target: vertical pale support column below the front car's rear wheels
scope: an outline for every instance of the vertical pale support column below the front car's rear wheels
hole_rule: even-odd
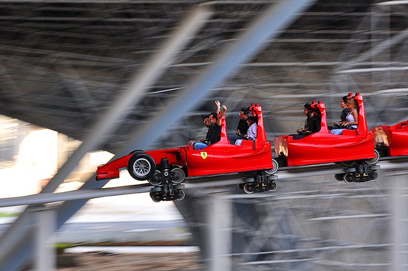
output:
[[[232,270],[232,200],[219,194],[212,195],[208,202],[209,221],[209,269],[211,271]]]

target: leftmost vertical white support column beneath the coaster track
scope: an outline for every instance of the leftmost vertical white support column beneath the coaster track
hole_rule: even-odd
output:
[[[57,248],[54,233],[57,230],[55,208],[40,207],[31,212],[36,219],[34,270],[53,271],[57,269]]]

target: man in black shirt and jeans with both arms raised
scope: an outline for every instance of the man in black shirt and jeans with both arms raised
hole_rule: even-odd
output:
[[[216,113],[211,113],[210,114],[210,127],[208,128],[207,131],[207,142],[189,142],[189,145],[194,146],[194,149],[201,149],[208,147],[211,144],[217,143],[221,139],[221,119],[226,113],[226,106],[223,105],[222,108],[224,109],[221,114],[218,114],[220,112],[220,102],[215,101],[215,104],[217,105],[217,112]]]

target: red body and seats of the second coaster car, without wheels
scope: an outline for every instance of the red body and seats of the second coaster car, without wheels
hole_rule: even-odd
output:
[[[356,94],[359,104],[359,125],[356,130],[344,130],[343,135],[330,134],[325,105],[312,104],[321,114],[321,130],[300,139],[283,135],[274,139],[275,152],[285,156],[287,166],[300,166],[376,158],[374,133],[368,130],[363,96]]]

